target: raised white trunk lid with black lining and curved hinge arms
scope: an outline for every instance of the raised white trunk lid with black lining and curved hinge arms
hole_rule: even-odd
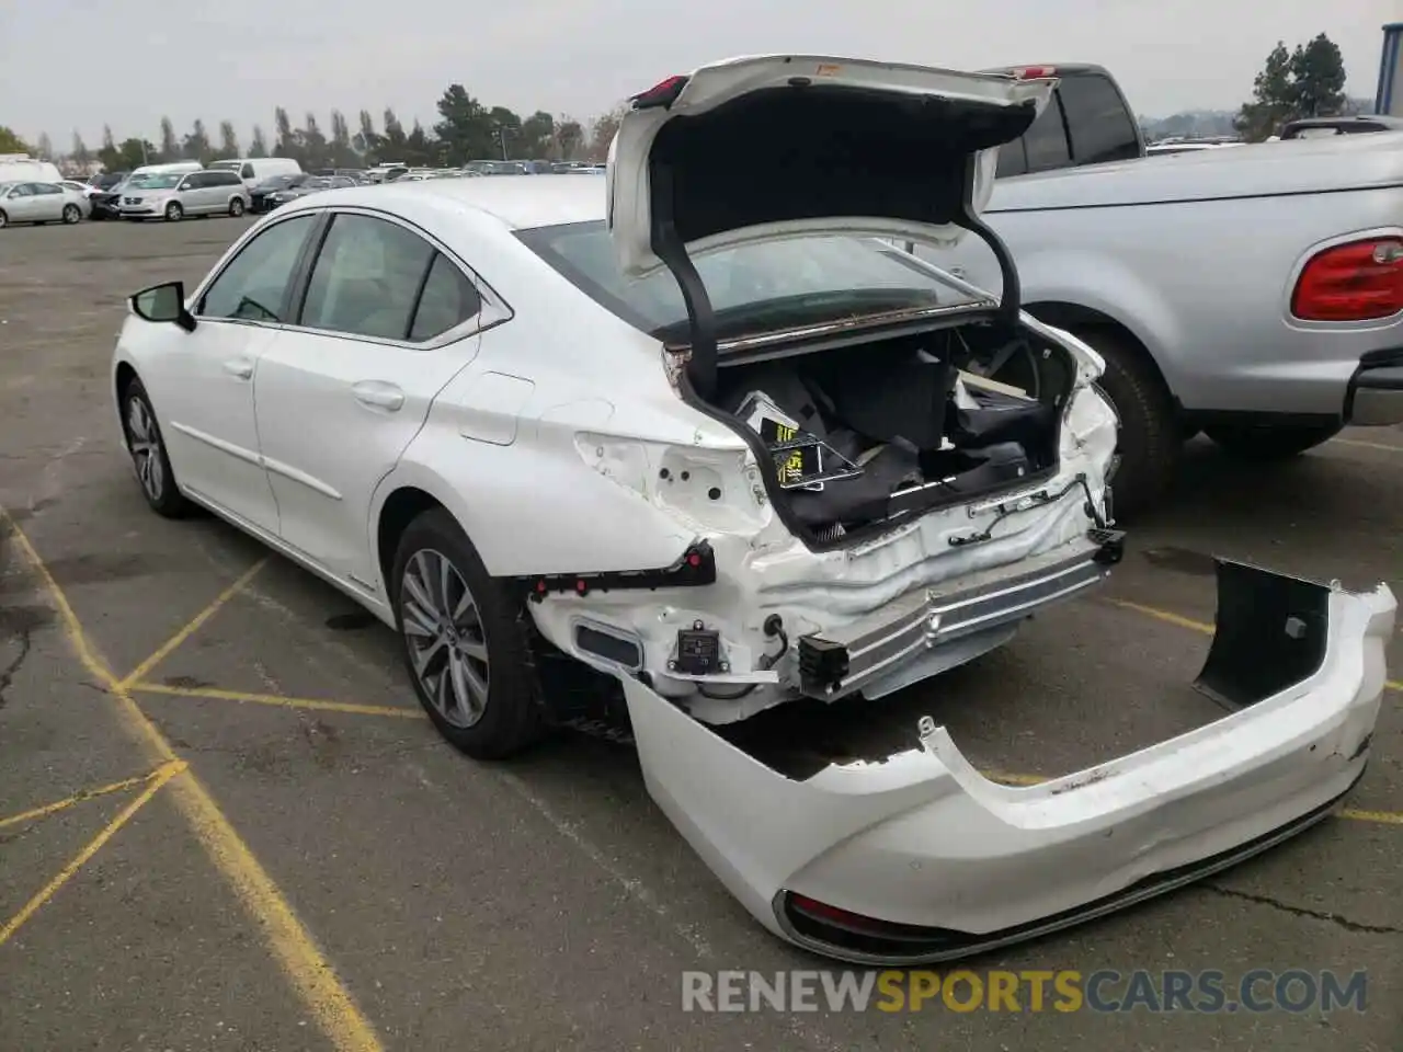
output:
[[[1055,80],[807,55],[704,66],[636,95],[609,150],[607,226],[624,275],[669,269],[687,306],[689,376],[709,393],[716,332],[693,257],[814,236],[991,244],[1017,318],[1017,274],[979,220],[998,147]]]

